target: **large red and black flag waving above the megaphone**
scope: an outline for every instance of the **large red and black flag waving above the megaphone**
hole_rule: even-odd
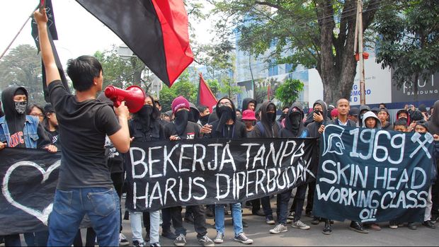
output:
[[[183,0],[76,0],[167,86],[193,62]]]

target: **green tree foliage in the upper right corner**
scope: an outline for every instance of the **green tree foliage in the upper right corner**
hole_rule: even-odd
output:
[[[398,87],[439,71],[439,2],[394,1],[377,13],[377,62],[393,69]],[[417,91],[417,83],[414,83]]]

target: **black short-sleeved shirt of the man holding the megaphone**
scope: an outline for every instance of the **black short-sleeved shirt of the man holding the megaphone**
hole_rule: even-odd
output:
[[[57,188],[112,188],[104,144],[106,134],[120,130],[113,109],[99,100],[76,101],[61,81],[53,81],[48,90],[62,144]]]

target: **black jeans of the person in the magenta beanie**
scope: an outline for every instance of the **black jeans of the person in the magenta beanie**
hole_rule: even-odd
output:
[[[186,209],[188,208],[193,212],[193,226],[197,232],[197,239],[201,239],[207,234],[204,208],[202,205],[186,206]],[[183,234],[186,236],[186,229],[183,227],[183,219],[181,218],[181,207],[170,207],[169,209],[171,210],[176,235]]]

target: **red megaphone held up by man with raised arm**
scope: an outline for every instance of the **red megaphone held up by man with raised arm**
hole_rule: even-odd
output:
[[[113,101],[115,107],[119,107],[125,101],[130,113],[137,113],[144,105],[145,93],[139,86],[129,86],[123,90],[115,86],[108,86],[105,91],[106,97]]]

